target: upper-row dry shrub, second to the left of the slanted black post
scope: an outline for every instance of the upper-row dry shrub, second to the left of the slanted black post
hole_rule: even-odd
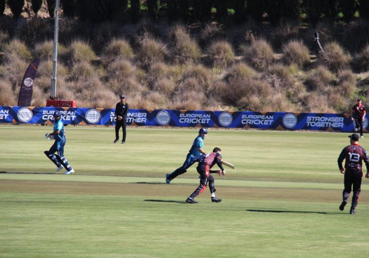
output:
[[[255,69],[264,71],[273,62],[274,52],[264,39],[256,39],[250,46],[241,46],[241,52]]]

